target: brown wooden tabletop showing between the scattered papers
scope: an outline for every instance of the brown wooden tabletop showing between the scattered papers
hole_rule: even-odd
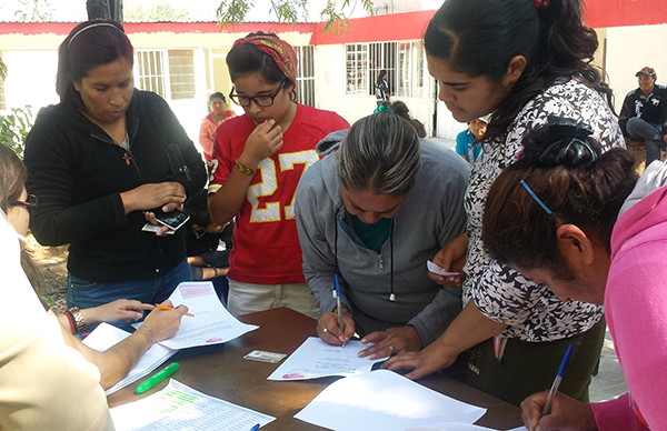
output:
[[[291,354],[308,337],[316,335],[316,321],[287,308],[261,311],[239,318],[245,323],[260,328],[227,342],[218,351],[191,354],[179,352],[170,361],[181,367],[173,379],[206,394],[270,414],[277,419],[263,430],[323,430],[293,419],[328,384],[338,378],[277,382],[267,377],[278,364],[243,359],[252,350]],[[109,407],[125,404],[148,397],[167,385],[168,379],[153,389],[137,395],[133,393],[139,380],[108,398]],[[487,413],[476,423],[499,430],[522,424],[520,409],[495,397],[468,387],[445,374],[432,374],[419,383],[448,397],[487,408]]]

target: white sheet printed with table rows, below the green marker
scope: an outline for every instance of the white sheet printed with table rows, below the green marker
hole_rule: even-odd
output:
[[[117,431],[248,431],[276,418],[193,390],[177,380],[139,401],[110,409]]]

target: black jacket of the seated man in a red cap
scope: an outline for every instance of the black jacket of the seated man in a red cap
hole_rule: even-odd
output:
[[[667,134],[667,89],[655,84],[648,98],[644,97],[638,88],[627,93],[618,116],[618,124],[625,137],[628,137],[626,127],[633,117],[639,117],[651,124],[659,124],[661,134]]]

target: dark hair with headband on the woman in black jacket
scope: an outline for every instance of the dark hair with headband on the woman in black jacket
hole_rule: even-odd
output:
[[[74,82],[81,82],[91,69],[121,58],[133,66],[133,52],[122,26],[113,20],[91,20],[74,27],[58,49],[56,92],[60,101],[86,109]]]

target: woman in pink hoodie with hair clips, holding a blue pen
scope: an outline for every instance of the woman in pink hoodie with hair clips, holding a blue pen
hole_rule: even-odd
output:
[[[546,415],[547,393],[540,392],[521,403],[524,422],[531,431],[665,429],[667,389],[657,375],[667,363],[667,169],[651,163],[633,190],[633,160],[624,151],[594,159],[596,142],[561,141],[542,158],[550,142],[542,132],[525,141],[521,158],[494,182],[484,243],[560,300],[604,303],[630,392],[590,404],[558,392]],[[552,156],[560,153],[558,162]],[[625,212],[616,220],[619,209]]]

